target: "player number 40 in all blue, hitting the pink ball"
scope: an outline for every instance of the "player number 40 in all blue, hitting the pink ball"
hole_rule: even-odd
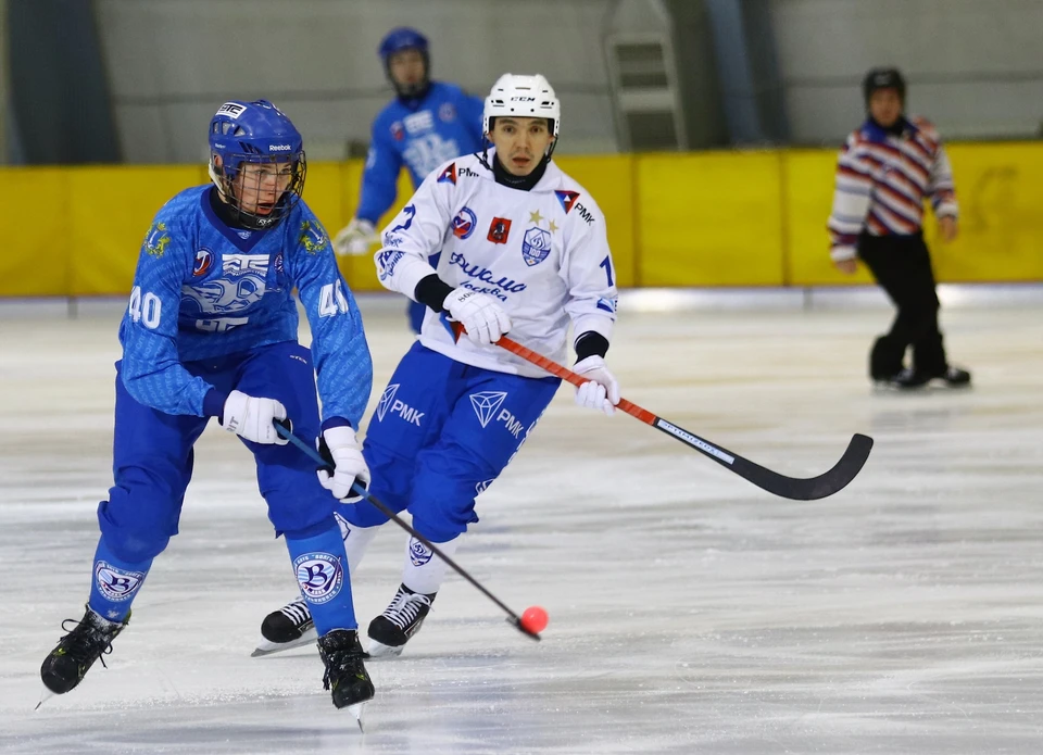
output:
[[[152,559],[177,533],[192,446],[217,417],[254,456],[268,518],[319,627],[326,689],[337,707],[355,706],[374,688],[334,507],[354,480],[369,479],[353,429],[373,386],[362,319],[301,200],[304,150],[289,118],[265,100],[226,102],[210,123],[210,152],[213,186],[168,201],[141,247],[120,326],[115,480],[98,507],[87,612],[40,674],[51,692],[68,692],[127,626]],[[297,341],[294,288],[311,349]],[[274,420],[321,437],[334,475],[316,479]]]

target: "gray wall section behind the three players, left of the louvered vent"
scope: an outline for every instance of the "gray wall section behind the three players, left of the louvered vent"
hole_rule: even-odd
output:
[[[392,96],[376,48],[393,26],[431,40],[435,78],[485,96],[543,73],[563,103],[561,151],[616,150],[601,27],[612,0],[96,0],[125,160],[203,161],[229,98],[266,97],[312,159],[366,143]]]

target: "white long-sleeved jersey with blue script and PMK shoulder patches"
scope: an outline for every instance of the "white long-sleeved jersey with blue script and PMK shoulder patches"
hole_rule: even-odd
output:
[[[437,272],[454,288],[495,297],[511,316],[507,335],[556,362],[565,358],[569,322],[577,336],[612,339],[616,287],[605,218],[553,161],[530,191],[498,184],[477,154],[444,163],[380,241],[377,274],[386,288],[414,299],[416,285]],[[438,252],[436,270],[428,256]],[[546,377],[500,347],[455,341],[448,316],[428,309],[420,343],[476,367]]]

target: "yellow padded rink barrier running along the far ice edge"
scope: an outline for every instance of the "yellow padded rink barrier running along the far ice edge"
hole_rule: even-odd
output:
[[[948,282],[1043,281],[1043,143],[947,147],[960,236],[935,239]],[[561,155],[606,217],[620,287],[818,287],[846,277],[827,254],[835,150]],[[313,163],[304,197],[332,234],[357,203],[362,161]],[[125,295],[159,207],[206,181],[205,166],[7,167],[0,181],[7,249],[0,297]],[[399,204],[412,193],[405,174]],[[368,255],[339,261],[356,291],[380,290]]]

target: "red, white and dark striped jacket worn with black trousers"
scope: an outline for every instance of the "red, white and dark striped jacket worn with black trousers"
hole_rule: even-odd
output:
[[[830,256],[854,259],[862,231],[916,234],[923,224],[925,197],[938,217],[957,215],[953,172],[934,127],[913,118],[895,136],[866,121],[847,137],[837,162]]]

